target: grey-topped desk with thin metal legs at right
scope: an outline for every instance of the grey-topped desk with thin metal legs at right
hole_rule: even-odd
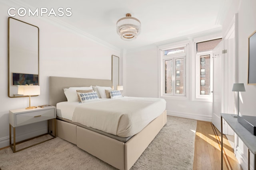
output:
[[[221,169],[223,169],[223,127],[222,118],[230,125],[233,131],[243,141],[244,145],[248,147],[248,170],[250,170],[250,152],[254,154],[254,170],[256,164],[256,136],[250,133],[243,125],[237,121],[237,117],[233,117],[232,114],[220,113],[221,115]]]

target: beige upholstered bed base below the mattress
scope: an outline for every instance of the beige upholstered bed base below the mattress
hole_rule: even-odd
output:
[[[166,111],[126,143],[57,120],[57,136],[120,170],[129,170],[166,124]]]

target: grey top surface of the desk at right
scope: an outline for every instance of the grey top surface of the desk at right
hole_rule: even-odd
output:
[[[232,114],[220,113],[222,118],[230,125],[236,135],[244,142],[248,149],[256,154],[256,136],[250,133],[243,125],[237,121],[237,117],[233,117]]]

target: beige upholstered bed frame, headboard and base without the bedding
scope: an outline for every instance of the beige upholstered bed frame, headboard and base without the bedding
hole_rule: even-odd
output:
[[[112,87],[111,80],[49,77],[49,101],[56,106],[67,101],[64,88],[81,86]],[[124,100],[124,99],[122,99]],[[57,108],[58,110],[58,108]],[[57,117],[57,136],[120,170],[129,170],[166,124],[166,110],[150,121],[139,133],[119,137],[87,127],[70,119]],[[121,135],[122,136],[122,135]]]

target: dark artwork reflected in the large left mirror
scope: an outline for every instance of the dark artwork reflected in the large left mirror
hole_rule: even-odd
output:
[[[12,73],[12,85],[38,85],[38,74]]]

